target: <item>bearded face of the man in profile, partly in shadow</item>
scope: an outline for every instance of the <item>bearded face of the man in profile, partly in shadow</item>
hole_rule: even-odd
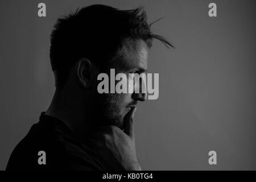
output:
[[[124,73],[145,73],[147,71],[148,48],[146,43],[138,40],[134,46],[126,48],[126,59],[115,60],[109,64],[107,74],[110,82],[110,69],[115,69],[115,75]],[[118,81],[115,81],[117,84]],[[141,82],[142,83],[142,82]],[[143,83],[142,83],[143,84]],[[141,85],[140,85],[141,86]],[[110,88],[110,87],[109,87]],[[115,125],[123,130],[126,114],[138,101],[146,100],[145,93],[103,93],[97,94],[97,117],[106,125]]]

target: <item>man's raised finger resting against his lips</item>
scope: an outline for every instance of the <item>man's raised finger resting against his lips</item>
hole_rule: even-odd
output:
[[[132,107],[131,110],[125,116],[125,123],[123,131],[131,138],[134,137],[133,119],[136,107]]]

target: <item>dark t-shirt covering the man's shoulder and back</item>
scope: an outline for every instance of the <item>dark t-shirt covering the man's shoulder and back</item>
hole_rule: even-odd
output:
[[[79,142],[64,122],[44,112],[11,154],[6,170],[15,169],[107,170],[97,154]]]

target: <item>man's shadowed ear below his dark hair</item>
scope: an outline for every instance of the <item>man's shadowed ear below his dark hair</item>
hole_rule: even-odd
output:
[[[77,78],[84,88],[89,88],[92,84],[92,63],[87,58],[77,61]]]

